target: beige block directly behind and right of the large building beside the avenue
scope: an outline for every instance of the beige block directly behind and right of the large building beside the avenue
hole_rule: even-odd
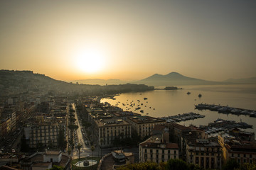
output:
[[[132,130],[134,130],[134,132],[137,132],[137,134],[141,138],[150,136],[152,129],[154,128],[154,125],[166,124],[166,120],[162,120],[159,118],[152,118],[146,115],[127,118],[127,121],[131,123]]]

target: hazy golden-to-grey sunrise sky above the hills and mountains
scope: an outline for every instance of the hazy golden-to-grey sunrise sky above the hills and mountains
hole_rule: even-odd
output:
[[[256,77],[255,0],[0,1],[0,69],[58,80]]]

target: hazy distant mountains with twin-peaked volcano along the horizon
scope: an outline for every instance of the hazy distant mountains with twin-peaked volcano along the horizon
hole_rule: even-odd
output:
[[[181,85],[214,85],[214,84],[256,84],[256,77],[249,79],[228,79],[226,81],[207,81],[183,76],[177,72],[171,72],[166,75],[154,74],[146,79],[139,81],[121,81],[119,79],[83,79],[70,81],[79,84],[146,84],[148,86],[181,86]]]

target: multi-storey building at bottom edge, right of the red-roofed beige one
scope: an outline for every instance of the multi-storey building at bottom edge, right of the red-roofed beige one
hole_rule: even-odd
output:
[[[208,139],[196,139],[196,141],[186,141],[186,162],[198,164],[204,169],[220,169],[221,147],[218,142]]]

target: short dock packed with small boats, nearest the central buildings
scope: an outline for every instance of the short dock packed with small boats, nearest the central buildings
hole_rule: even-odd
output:
[[[198,113],[183,113],[183,114],[178,114],[178,115],[169,115],[167,117],[161,117],[161,119],[166,120],[168,123],[179,123],[183,122],[186,120],[194,120],[198,118],[204,118],[206,117],[205,115],[200,115]]]

